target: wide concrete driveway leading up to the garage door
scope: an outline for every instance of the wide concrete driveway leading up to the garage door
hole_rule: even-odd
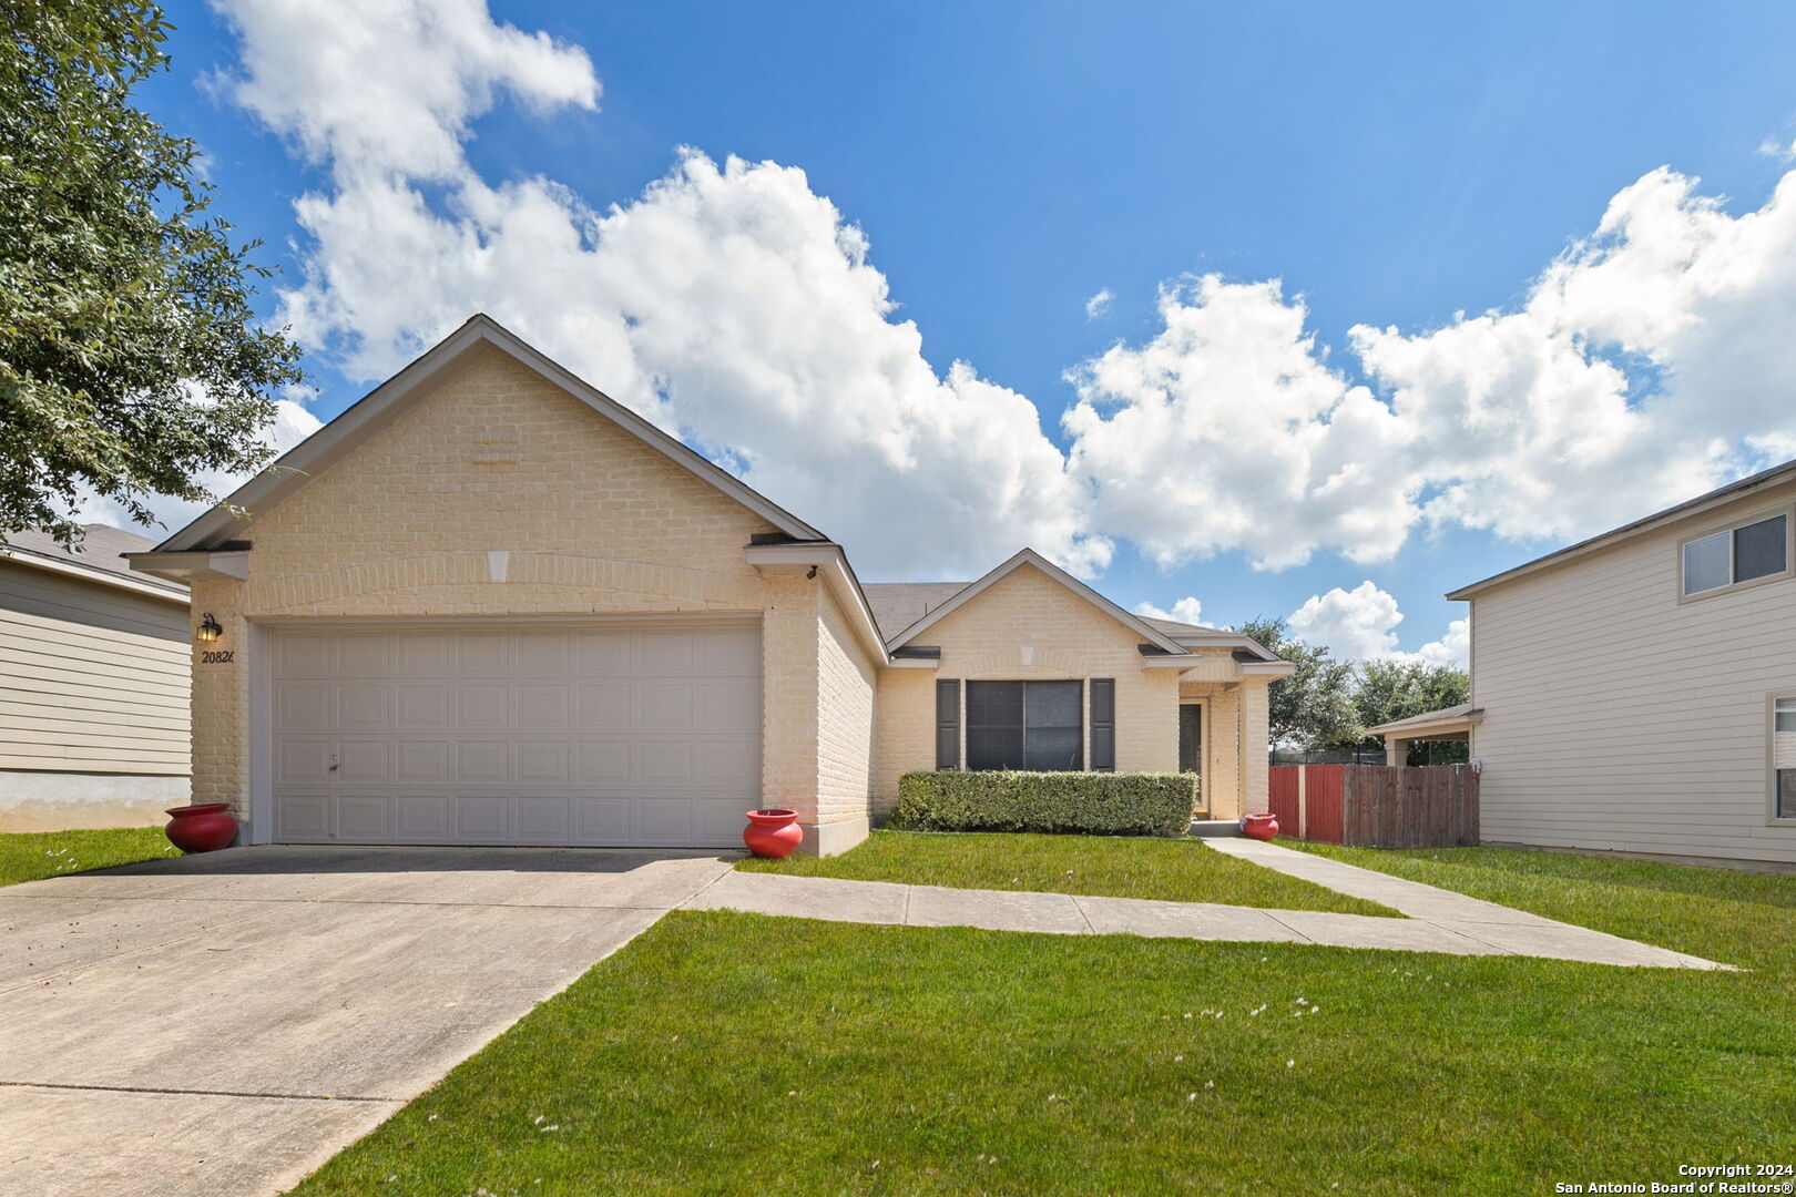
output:
[[[727,870],[244,847],[0,888],[0,1197],[282,1192]]]

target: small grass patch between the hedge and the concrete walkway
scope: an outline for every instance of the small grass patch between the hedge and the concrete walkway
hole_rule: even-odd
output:
[[[1395,910],[1378,903],[1223,856],[1194,838],[875,831],[866,843],[841,856],[744,860],[736,869],[961,890],[1153,897],[1397,917]]]

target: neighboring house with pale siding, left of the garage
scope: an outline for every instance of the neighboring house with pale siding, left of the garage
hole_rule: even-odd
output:
[[[162,822],[187,800],[187,587],[133,572],[154,542],[88,524],[0,546],[0,831]]]

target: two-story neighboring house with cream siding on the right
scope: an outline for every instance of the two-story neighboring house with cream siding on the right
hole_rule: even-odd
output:
[[[1796,861],[1796,461],[1471,603],[1487,843]]]

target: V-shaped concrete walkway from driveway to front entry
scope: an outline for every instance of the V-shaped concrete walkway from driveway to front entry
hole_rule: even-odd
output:
[[[1078,894],[955,890],[936,885],[788,878],[774,872],[727,872],[686,901],[682,910],[745,910],[839,922],[977,926],[990,931],[1052,935],[1151,935],[1444,951],[1462,957],[1546,957],[1661,969],[1730,967],[1257,840],[1205,840],[1205,843],[1340,894],[1390,906],[1408,917],[1381,919]]]

